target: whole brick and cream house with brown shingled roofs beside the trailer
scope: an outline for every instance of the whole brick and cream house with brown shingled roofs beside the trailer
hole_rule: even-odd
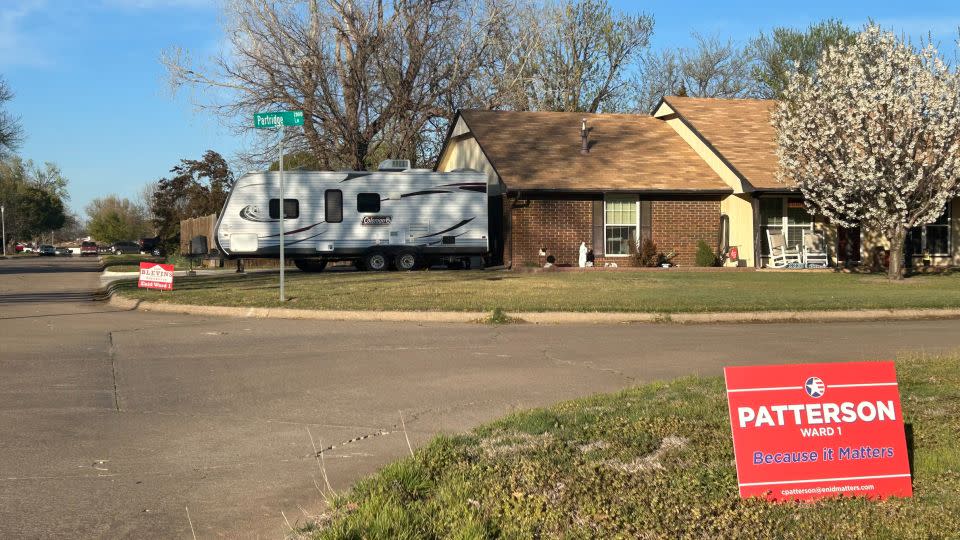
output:
[[[737,246],[741,265],[762,266],[774,228],[792,245],[819,231],[833,264],[866,261],[883,247],[879,235],[811,216],[796,186],[777,180],[773,105],[668,96],[651,116],[464,110],[436,169],[487,174],[491,250],[516,267],[547,255],[574,264],[580,242],[598,264],[629,265],[631,239],[643,238],[681,266],[694,264],[700,240]],[[960,265],[960,200],[909,244],[917,263],[927,252]]]

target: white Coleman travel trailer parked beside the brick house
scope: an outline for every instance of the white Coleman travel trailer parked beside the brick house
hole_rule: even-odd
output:
[[[435,173],[284,173],[284,253],[304,271],[329,261],[355,261],[368,270],[413,270],[486,257],[487,178],[474,170]],[[228,258],[279,257],[280,176],[237,180],[216,226]]]

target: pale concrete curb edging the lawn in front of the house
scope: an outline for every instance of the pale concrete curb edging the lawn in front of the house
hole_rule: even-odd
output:
[[[484,312],[460,311],[321,311],[291,308],[198,306],[134,300],[119,296],[113,290],[105,292],[110,295],[110,305],[118,309],[216,317],[302,319],[316,321],[477,323],[487,319],[490,315]],[[956,319],[960,318],[960,309],[866,309],[853,311],[749,311],[724,313],[518,312],[507,313],[507,315],[511,318],[519,319],[518,322],[532,324],[731,324]]]

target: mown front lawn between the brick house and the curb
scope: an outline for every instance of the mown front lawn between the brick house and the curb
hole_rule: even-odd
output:
[[[133,298],[274,307],[276,274],[177,278],[173,292],[122,286]],[[711,312],[960,307],[960,273],[902,282],[819,272],[328,272],[287,274],[292,308],[329,310]]]

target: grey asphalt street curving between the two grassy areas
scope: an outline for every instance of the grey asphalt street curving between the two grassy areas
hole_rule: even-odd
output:
[[[516,409],[729,364],[960,348],[960,321],[484,326],[220,319],[0,260],[0,538],[280,538],[334,489]],[[311,438],[313,442],[311,442]],[[188,519],[189,512],[189,519]]]

